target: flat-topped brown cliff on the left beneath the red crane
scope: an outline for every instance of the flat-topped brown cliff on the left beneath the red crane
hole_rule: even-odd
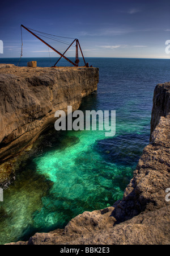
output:
[[[17,155],[39,137],[67,105],[78,109],[82,97],[97,89],[98,68],[0,69],[0,162]]]

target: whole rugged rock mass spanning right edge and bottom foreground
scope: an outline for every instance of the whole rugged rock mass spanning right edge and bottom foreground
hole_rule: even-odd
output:
[[[170,82],[155,88],[151,142],[143,150],[121,201],[79,214],[65,229],[36,233],[27,242],[11,244],[169,244],[170,202],[165,200],[165,189],[170,187],[169,90]],[[166,111],[160,108],[155,112],[160,102],[165,102]]]

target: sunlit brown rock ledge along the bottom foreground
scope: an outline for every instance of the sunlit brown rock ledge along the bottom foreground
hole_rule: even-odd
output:
[[[69,222],[64,230],[36,233],[29,241],[11,245],[167,245],[170,243],[170,205],[141,213],[114,225],[112,209],[84,212]],[[106,217],[104,217],[106,215]],[[110,217],[109,217],[110,216]]]

